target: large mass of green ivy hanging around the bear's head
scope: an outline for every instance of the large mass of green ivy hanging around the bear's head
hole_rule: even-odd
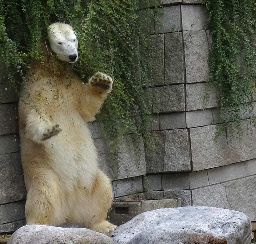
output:
[[[114,78],[114,89],[97,117],[105,139],[131,132],[147,135],[151,57],[139,0],[0,0],[0,60],[10,84],[25,79],[33,60],[43,61],[47,27],[55,21],[71,24],[78,36],[79,59],[68,68],[85,82],[96,71]]]

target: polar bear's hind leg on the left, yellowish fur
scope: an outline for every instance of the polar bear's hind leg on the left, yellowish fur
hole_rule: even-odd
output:
[[[27,224],[59,226],[65,222],[59,189],[53,172],[35,174],[27,194]]]

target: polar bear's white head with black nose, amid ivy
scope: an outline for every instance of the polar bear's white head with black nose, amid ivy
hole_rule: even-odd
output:
[[[78,41],[74,29],[64,23],[53,23],[48,28],[51,49],[59,60],[75,63],[78,59]]]

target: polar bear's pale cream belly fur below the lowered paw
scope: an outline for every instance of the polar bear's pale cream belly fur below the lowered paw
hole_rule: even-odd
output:
[[[47,140],[49,162],[66,190],[91,188],[98,164],[96,148],[86,122],[75,112],[58,114],[62,131]]]

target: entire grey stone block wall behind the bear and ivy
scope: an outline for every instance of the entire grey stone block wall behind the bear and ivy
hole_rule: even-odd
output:
[[[215,140],[219,91],[206,84],[211,36],[200,2],[159,0],[163,8],[150,21],[156,152],[144,147],[140,135],[128,135],[114,163],[97,122],[89,126],[115,198],[132,200],[141,193],[145,199],[180,198],[181,206],[228,208],[256,221],[255,127],[251,115],[244,114],[242,137],[232,136],[236,133],[228,128]],[[11,232],[24,224],[26,191],[17,136],[18,98],[4,84],[0,97],[0,232]]]

